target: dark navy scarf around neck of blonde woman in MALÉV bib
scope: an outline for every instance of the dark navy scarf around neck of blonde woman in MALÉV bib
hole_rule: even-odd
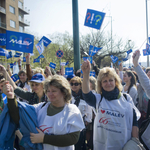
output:
[[[119,89],[117,87],[114,88],[114,90],[112,91],[105,91],[103,88],[102,88],[102,95],[105,97],[105,99],[107,99],[108,101],[111,101],[111,100],[115,100],[115,99],[118,99],[118,96],[119,96],[120,92],[119,92]]]

